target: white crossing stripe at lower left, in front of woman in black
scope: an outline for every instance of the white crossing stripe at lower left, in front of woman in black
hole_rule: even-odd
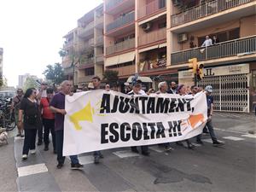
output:
[[[18,176],[19,177],[34,175],[34,174],[38,174],[40,172],[48,172],[48,169],[44,163],[36,164],[36,165],[32,165],[32,166],[18,167]]]

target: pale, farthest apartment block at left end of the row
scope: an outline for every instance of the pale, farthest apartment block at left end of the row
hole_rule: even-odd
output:
[[[86,85],[95,75],[103,73],[103,4],[90,10],[78,20],[78,27],[69,32],[63,49],[67,55],[62,66],[73,84]],[[72,65],[73,63],[73,65]]]

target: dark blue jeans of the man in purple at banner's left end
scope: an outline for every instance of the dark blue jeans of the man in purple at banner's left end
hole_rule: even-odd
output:
[[[63,151],[63,130],[55,131],[55,140],[56,140],[56,152],[57,152],[57,161],[60,164],[64,164],[65,157],[62,155]],[[71,155],[69,156],[72,164],[78,164],[79,158],[78,155]]]

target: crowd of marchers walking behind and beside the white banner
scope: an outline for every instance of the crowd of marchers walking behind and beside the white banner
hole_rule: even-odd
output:
[[[203,130],[203,133],[207,133],[212,138],[213,146],[220,146],[224,143],[218,141],[214,129],[212,126],[212,113],[213,113],[213,97],[212,86],[207,85],[205,88],[193,85],[191,87],[184,84],[176,84],[172,82],[168,87],[166,82],[160,82],[158,84],[158,90],[148,89],[144,91],[142,89],[143,82],[139,79],[134,80],[132,84],[125,84],[125,94],[128,95],[150,95],[150,94],[178,94],[195,95],[200,91],[204,91],[207,97],[207,124]],[[94,77],[91,79],[91,83],[86,90],[100,90],[101,79]],[[64,131],[64,116],[67,113],[65,110],[65,96],[72,96],[73,92],[86,91],[86,90],[73,90],[73,84],[65,80],[61,83],[58,89],[50,88],[45,82],[41,84],[41,87],[36,90],[35,88],[29,88],[23,93],[23,90],[18,89],[17,95],[13,99],[13,109],[15,110],[15,120],[17,123],[18,134],[16,137],[24,138],[22,160],[27,160],[29,154],[36,153],[36,138],[38,135],[37,145],[44,143],[44,151],[49,151],[49,132],[51,133],[51,143],[53,145],[53,154],[56,154],[57,168],[61,169],[64,165],[65,156],[62,155],[63,149],[63,131]],[[118,87],[110,84],[105,85],[105,90],[119,91]],[[176,142],[179,146],[184,146],[189,149],[194,149],[195,145],[191,142],[194,138],[187,139],[185,141]],[[203,144],[201,140],[201,134],[195,137],[195,142]],[[187,146],[186,146],[187,145]],[[166,152],[173,150],[171,143],[159,144],[160,148],[163,148]],[[136,146],[131,147],[133,153],[139,153],[139,148]],[[148,146],[141,146],[141,153],[145,156],[150,155]],[[101,151],[95,151],[94,162],[98,164],[100,159],[103,158]],[[78,155],[70,156],[71,168],[81,169],[83,165],[79,163]]]

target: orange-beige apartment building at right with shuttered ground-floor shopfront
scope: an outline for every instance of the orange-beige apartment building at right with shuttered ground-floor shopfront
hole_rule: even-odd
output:
[[[193,84],[188,61],[197,58],[205,66],[199,85],[213,86],[215,110],[249,112],[256,91],[256,2],[168,2],[168,68],[178,69],[179,84]],[[201,47],[206,36],[217,44]]]

